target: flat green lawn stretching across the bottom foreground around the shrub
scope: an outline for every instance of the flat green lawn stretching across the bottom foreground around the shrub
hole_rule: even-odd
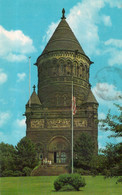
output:
[[[116,178],[104,179],[102,176],[85,176],[86,186],[79,192],[55,192],[55,176],[5,177],[0,179],[1,195],[120,195],[122,185],[116,184]]]

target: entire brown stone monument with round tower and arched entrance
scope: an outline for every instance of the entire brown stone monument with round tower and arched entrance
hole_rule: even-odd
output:
[[[40,149],[40,158],[53,164],[67,164],[71,159],[72,143],[72,83],[76,97],[74,142],[82,132],[91,134],[97,151],[97,107],[89,84],[92,62],[84,53],[66,22],[61,21],[38,57],[38,93],[26,104],[27,137]]]

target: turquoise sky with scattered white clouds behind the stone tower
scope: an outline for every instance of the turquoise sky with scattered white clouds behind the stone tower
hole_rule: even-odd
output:
[[[66,20],[86,55],[92,91],[99,102],[99,119],[114,103],[122,104],[122,1],[121,0],[0,0],[0,142],[16,145],[26,135],[25,104],[31,86],[37,86],[33,64],[66,11]],[[32,93],[31,89],[31,93]],[[99,128],[98,145],[118,143]]]

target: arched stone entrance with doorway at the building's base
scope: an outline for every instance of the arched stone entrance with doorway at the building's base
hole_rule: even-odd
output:
[[[69,161],[70,143],[63,136],[56,136],[50,140],[48,159],[54,164],[67,164]]]

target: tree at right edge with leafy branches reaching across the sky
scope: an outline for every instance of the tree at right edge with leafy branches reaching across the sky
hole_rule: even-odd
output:
[[[122,107],[115,104],[118,108],[118,114],[111,114],[109,110],[106,118],[101,120],[101,128],[105,131],[111,131],[110,137],[121,137],[122,136]],[[122,143],[107,144],[105,149],[101,152],[106,157],[105,171],[106,176],[120,176],[122,174],[121,163],[122,163]]]

